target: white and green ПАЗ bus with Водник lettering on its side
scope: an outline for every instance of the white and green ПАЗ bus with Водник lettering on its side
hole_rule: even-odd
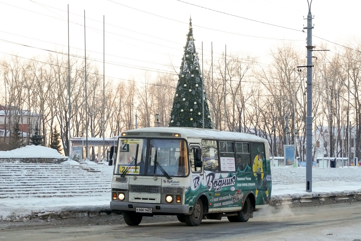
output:
[[[115,150],[110,208],[128,225],[153,215],[246,222],[270,202],[269,145],[256,135],[142,128],[122,132]]]

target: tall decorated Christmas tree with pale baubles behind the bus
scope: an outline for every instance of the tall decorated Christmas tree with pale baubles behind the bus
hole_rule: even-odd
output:
[[[175,90],[169,126],[212,129],[199,57],[194,45],[192,20],[189,23],[178,85]],[[203,96],[202,96],[203,94]],[[204,120],[204,126],[203,126]]]

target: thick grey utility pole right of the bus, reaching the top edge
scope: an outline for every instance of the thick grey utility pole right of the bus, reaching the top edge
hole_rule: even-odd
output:
[[[312,14],[308,3],[307,14],[307,116],[306,116],[306,191],[312,192]]]

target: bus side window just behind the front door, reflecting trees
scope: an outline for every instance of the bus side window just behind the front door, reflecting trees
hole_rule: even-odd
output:
[[[202,140],[202,154],[204,170],[219,172],[217,141]]]

